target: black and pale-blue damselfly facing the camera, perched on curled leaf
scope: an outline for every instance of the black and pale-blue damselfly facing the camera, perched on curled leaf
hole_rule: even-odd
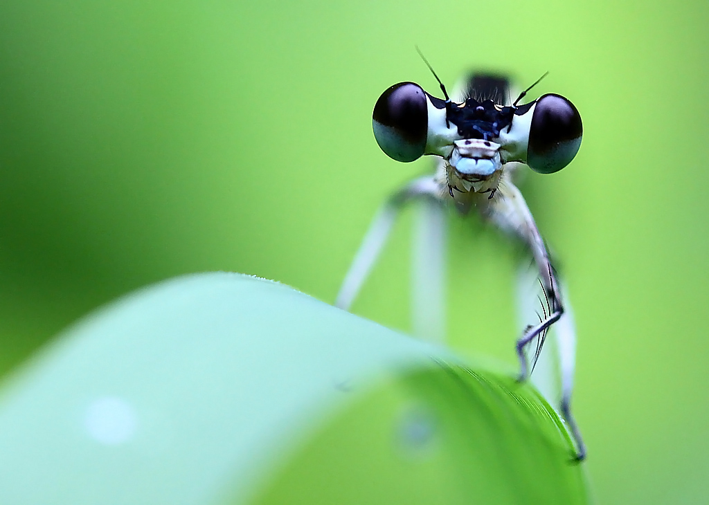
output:
[[[544,76],[510,103],[508,79],[472,74],[453,101],[423,59],[445,98],[436,98],[413,82],[395,84],[376,101],[372,123],[374,137],[384,153],[404,162],[433,155],[437,157],[435,174],[415,178],[389,198],[359,247],[335,305],[350,307],[406,203],[429,198],[453,205],[464,214],[475,210],[525,245],[542,285],[545,308],[536,324],[525,327],[515,346],[519,380],[528,378],[529,361],[533,368],[549,327],[561,320],[555,328],[561,373],[560,412],[576,443],[575,458],[583,460],[586,448],[571,414],[574,326],[564,315],[559,280],[547,247],[513,182],[518,166],[552,174],[569,164],[581,146],[581,115],[571,101],[553,93],[519,105]],[[528,360],[526,349],[532,342],[537,346],[534,358]]]

